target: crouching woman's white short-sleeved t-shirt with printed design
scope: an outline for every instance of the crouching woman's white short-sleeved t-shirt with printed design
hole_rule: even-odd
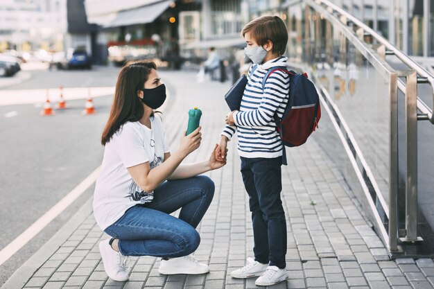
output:
[[[112,225],[136,204],[151,202],[153,192],[144,192],[135,184],[127,168],[150,164],[155,168],[169,152],[161,119],[150,117],[151,129],[138,121],[128,122],[105,143],[101,173],[94,191],[94,216],[101,229]]]

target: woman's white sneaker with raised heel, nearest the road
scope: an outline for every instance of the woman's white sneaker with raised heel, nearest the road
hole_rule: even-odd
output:
[[[114,251],[109,241],[110,239],[107,239],[99,243],[99,252],[103,258],[105,273],[114,281],[127,281],[128,273],[125,269],[127,257]]]

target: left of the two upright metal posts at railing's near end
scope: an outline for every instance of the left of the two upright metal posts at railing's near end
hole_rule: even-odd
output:
[[[398,250],[398,78],[389,83],[389,249]]]

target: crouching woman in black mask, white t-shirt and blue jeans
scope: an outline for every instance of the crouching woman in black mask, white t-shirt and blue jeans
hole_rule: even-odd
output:
[[[94,192],[94,216],[111,239],[99,244],[107,275],[128,280],[124,256],[162,257],[161,274],[204,274],[205,264],[189,256],[196,231],[214,195],[214,182],[201,173],[225,165],[214,148],[207,161],[181,164],[200,146],[200,127],[180,140],[171,155],[159,116],[166,87],[153,62],[129,64],[116,82],[112,111],[103,132],[101,173]],[[181,209],[179,218],[169,213]]]

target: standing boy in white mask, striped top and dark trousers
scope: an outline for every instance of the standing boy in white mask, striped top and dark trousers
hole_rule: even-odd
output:
[[[289,77],[273,72],[262,89],[268,69],[287,67],[282,56],[288,42],[284,21],[263,16],[250,21],[241,31],[245,54],[254,63],[248,73],[241,108],[227,114],[217,159],[223,160],[227,141],[237,133],[241,174],[249,195],[254,233],[254,259],[231,272],[234,278],[259,277],[257,286],[270,286],[288,279],[286,273],[286,219],[281,204],[282,143],[273,115],[281,118],[288,103]],[[252,68],[255,69],[252,69]]]

